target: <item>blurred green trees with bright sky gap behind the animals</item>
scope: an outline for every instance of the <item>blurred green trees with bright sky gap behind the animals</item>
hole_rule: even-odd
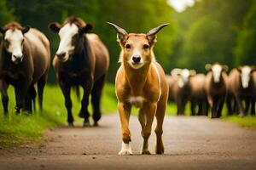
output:
[[[62,22],[75,14],[95,26],[108,46],[108,82],[119,67],[119,44],[111,21],[128,32],[146,33],[154,26],[170,23],[160,32],[154,48],[166,72],[175,67],[205,72],[215,61],[235,67],[256,65],[255,0],[1,0],[0,26],[19,21],[43,31],[51,42],[52,56],[59,37],[51,33],[50,22]],[[53,69],[49,82],[55,83]]]

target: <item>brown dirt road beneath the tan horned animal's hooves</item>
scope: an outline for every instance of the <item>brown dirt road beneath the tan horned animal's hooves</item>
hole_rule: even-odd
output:
[[[103,116],[101,127],[61,127],[46,142],[0,150],[0,169],[256,169],[256,131],[206,117],[166,116],[165,155],[138,155],[143,144],[131,117],[133,156],[118,156],[119,117]],[[154,153],[155,135],[149,147]]]

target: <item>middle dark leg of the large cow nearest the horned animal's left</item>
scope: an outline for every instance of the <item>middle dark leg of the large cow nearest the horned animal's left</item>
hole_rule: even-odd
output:
[[[88,111],[88,105],[89,105],[89,96],[90,96],[90,92],[91,92],[91,88],[93,86],[93,82],[87,82],[85,83],[82,88],[84,89],[84,95],[83,95],[83,99],[81,101],[82,107],[81,110],[79,112],[79,116],[80,117],[84,117],[84,127],[89,127],[90,126],[90,122],[89,122],[89,111]]]

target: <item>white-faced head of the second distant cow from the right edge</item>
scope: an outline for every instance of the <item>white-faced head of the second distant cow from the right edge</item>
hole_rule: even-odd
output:
[[[207,71],[212,71],[213,82],[220,82],[220,78],[222,77],[222,73],[228,71],[229,67],[227,65],[220,65],[219,63],[207,64]]]

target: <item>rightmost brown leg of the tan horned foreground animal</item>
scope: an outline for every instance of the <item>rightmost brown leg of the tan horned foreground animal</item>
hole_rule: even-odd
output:
[[[166,104],[160,103],[159,105],[157,105],[157,111],[155,113],[157,124],[154,129],[154,132],[156,134],[156,144],[155,144],[156,154],[163,154],[165,151],[163,140],[162,140],[163,122],[165,118],[165,113],[166,113]]]

